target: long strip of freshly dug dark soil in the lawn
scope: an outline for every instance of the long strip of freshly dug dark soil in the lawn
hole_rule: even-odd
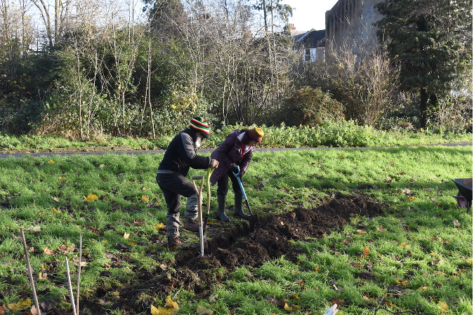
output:
[[[388,209],[386,203],[357,195],[334,198],[318,208],[298,208],[290,213],[269,217],[261,220],[254,231],[244,220],[210,225],[205,232],[207,241],[204,256],[200,255],[199,244],[185,246],[176,248],[173,266],[134,270],[136,279],[133,284],[127,288],[114,288],[114,291],[119,291],[120,297],[107,309],[118,308],[122,314],[138,314],[150,308],[150,302],[138,302],[140,293],[166,297],[171,291],[176,293],[180,288],[195,292],[197,298],[205,297],[216,283],[226,279],[227,275],[222,274],[222,270],[232,272],[232,269],[242,265],[258,267],[282,255],[296,262],[300,250],[291,245],[289,240],[321,238],[324,234],[341,229],[343,224],[350,221],[350,217],[384,215]],[[105,314],[103,304],[107,300],[106,294],[107,289],[98,288],[95,298],[81,301],[80,304],[91,309],[93,314]]]

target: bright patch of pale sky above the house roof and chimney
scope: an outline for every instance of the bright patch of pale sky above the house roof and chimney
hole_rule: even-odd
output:
[[[289,18],[297,30],[325,29],[324,13],[331,10],[338,0],[283,0],[293,8],[293,17]]]

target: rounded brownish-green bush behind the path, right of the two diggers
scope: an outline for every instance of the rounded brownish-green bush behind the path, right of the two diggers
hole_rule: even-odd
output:
[[[324,93],[321,88],[306,86],[287,100],[287,104],[279,114],[289,126],[315,127],[324,121],[343,119],[343,112],[343,105],[332,99],[331,94]]]

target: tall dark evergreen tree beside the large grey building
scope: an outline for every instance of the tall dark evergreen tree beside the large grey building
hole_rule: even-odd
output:
[[[394,0],[377,4],[384,15],[377,22],[378,38],[400,62],[403,91],[420,93],[421,128],[430,113],[472,67],[472,1]],[[470,23],[469,30],[466,23]],[[467,28],[467,29],[466,29]]]

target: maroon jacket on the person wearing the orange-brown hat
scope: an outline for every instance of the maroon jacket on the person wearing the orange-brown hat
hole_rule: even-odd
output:
[[[255,147],[250,147],[249,151],[239,159],[242,152],[242,143],[237,139],[237,137],[242,133],[244,133],[244,131],[239,129],[235,130],[225,138],[224,142],[222,142],[217,149],[212,152],[211,159],[218,160],[219,166],[212,172],[211,185],[215,185],[224,174],[228,173],[233,163],[236,163],[239,166],[242,175],[249,167]],[[237,160],[239,161],[237,162]]]

